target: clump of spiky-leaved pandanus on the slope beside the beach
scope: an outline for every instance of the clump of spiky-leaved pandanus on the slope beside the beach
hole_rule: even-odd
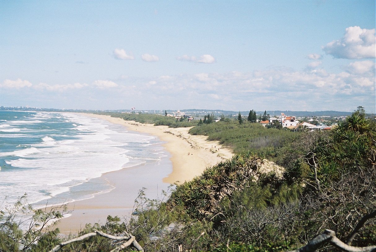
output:
[[[219,162],[178,186],[170,203],[184,206],[186,213],[196,219],[209,220],[218,214],[221,199],[231,197],[233,191],[243,188],[258,173],[261,161],[258,156],[243,153]]]

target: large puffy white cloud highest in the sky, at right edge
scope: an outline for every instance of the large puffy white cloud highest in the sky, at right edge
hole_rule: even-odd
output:
[[[375,58],[375,39],[375,29],[361,29],[359,26],[348,27],[343,38],[327,43],[323,50],[334,58]]]

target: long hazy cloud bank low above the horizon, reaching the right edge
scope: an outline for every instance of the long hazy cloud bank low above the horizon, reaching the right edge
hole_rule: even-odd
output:
[[[353,62],[344,67],[346,71],[339,73],[327,72],[320,66],[312,71],[270,67],[252,72],[136,77],[132,81],[119,79],[119,87],[111,96],[135,104],[147,96],[144,106],[165,108],[194,105],[233,111],[247,107],[353,111],[361,105],[371,112],[375,108],[376,80],[370,62]],[[182,95],[184,99],[181,99]]]

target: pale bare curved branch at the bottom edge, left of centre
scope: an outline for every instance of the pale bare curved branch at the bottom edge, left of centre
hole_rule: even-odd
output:
[[[64,247],[65,245],[67,245],[69,243],[72,243],[72,242],[75,242],[75,241],[83,241],[86,238],[89,238],[89,237],[92,237],[92,236],[96,236],[96,235],[99,235],[99,236],[102,236],[102,237],[106,237],[106,238],[109,238],[111,240],[126,241],[125,243],[121,244],[120,246],[115,247],[115,249],[111,250],[111,252],[120,251],[120,250],[122,250],[122,249],[124,249],[126,247],[129,247],[130,245],[132,245],[133,247],[135,247],[135,249],[137,249],[138,251],[144,251],[143,247],[141,247],[140,244],[138,244],[138,242],[136,241],[136,239],[135,239],[135,237],[133,235],[126,234],[124,236],[114,236],[114,235],[109,235],[109,234],[103,233],[102,231],[99,231],[99,230],[94,230],[94,232],[92,232],[92,233],[84,234],[84,235],[81,235],[79,237],[73,238],[71,240],[64,241],[64,242],[56,245],[49,252],[57,252],[62,247]]]

